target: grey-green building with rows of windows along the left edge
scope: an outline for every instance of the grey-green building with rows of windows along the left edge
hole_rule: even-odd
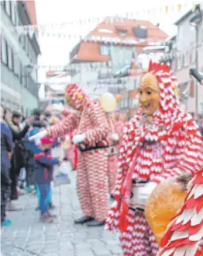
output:
[[[19,36],[15,30],[15,26],[36,23],[35,3],[29,2],[1,1],[1,102],[25,115],[39,104],[33,65],[37,64],[40,46],[35,36]]]

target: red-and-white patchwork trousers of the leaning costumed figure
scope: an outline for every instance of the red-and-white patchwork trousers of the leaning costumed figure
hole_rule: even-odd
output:
[[[108,149],[80,153],[77,195],[84,216],[104,221],[108,212]]]

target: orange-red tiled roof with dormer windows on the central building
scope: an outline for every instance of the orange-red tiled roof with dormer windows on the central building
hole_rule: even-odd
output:
[[[148,35],[145,42],[140,41],[139,38],[134,36],[132,29],[136,28],[137,26],[145,26],[148,30]],[[128,36],[120,36],[118,30],[127,30]],[[115,20],[113,23],[109,23],[106,20],[98,24],[98,26],[95,27],[95,30],[88,34],[88,37],[108,37],[117,38],[119,40],[134,40],[135,44],[131,46],[135,47],[136,50],[141,50],[143,47],[154,45],[154,43],[159,43],[160,41],[166,40],[168,36],[167,33],[163,32],[163,30],[160,30],[160,28],[153,25],[153,23],[150,23],[150,21],[126,19],[122,21]],[[71,59],[71,62],[109,61],[109,56],[100,54],[100,44],[104,44],[102,43],[102,40],[98,40],[97,42],[81,41],[81,45],[77,51],[77,54],[74,55],[74,58]]]

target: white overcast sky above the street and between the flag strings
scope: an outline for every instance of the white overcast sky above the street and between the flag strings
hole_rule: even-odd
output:
[[[138,6],[139,2],[139,6]],[[136,12],[143,9],[159,8],[163,5],[173,5],[178,2],[194,2],[192,0],[36,0],[36,15],[38,24],[43,23],[63,23],[78,19],[91,19],[116,13]],[[170,4],[169,4],[170,3]],[[178,14],[172,13],[168,15],[160,15],[150,18],[153,23],[160,22],[161,29],[168,34],[175,33],[173,23],[181,16],[183,12]],[[149,19],[147,16],[140,19]],[[71,26],[64,28],[64,33],[88,33],[97,24],[92,23],[91,26]],[[68,30],[68,32],[67,32]],[[70,32],[69,32],[70,31]],[[57,32],[57,31],[56,31]],[[63,31],[62,31],[63,33]],[[40,65],[65,65],[69,61],[69,52],[77,40],[67,38],[48,38],[40,37],[40,47],[42,56],[40,57]]]

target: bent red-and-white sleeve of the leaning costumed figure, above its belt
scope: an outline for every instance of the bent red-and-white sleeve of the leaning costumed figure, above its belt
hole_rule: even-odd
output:
[[[92,145],[106,139],[110,130],[105,111],[100,104],[95,100],[89,103],[89,121],[94,124],[94,128],[88,129],[84,132],[85,143]]]

